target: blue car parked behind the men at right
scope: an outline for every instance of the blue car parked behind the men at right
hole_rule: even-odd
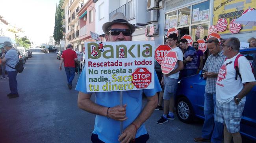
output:
[[[253,74],[256,77],[256,47],[242,49],[240,53],[252,63]],[[195,118],[204,119],[205,84],[206,80],[200,74],[182,78],[178,82],[175,103],[176,113],[181,121],[191,123]],[[256,86],[246,95],[240,133],[256,141]]]

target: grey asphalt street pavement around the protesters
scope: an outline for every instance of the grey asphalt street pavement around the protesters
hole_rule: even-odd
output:
[[[95,115],[77,106],[74,87],[79,74],[69,90],[56,53],[32,52],[24,71],[17,75],[18,98],[9,99],[9,82],[0,80],[0,143],[90,143]],[[200,136],[203,121],[186,124],[176,118],[158,125],[162,114],[154,111],[145,123],[148,143],[194,143],[193,138]]]

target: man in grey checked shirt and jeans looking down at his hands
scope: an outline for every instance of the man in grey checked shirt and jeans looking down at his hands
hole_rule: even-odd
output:
[[[216,114],[216,80],[219,69],[224,63],[226,56],[223,55],[219,41],[217,38],[209,38],[207,48],[211,55],[207,58],[204,65],[203,77],[206,78],[206,86],[204,93],[204,125],[202,127],[202,136],[194,138],[194,141],[212,143],[221,143],[223,140],[223,125],[215,121]]]

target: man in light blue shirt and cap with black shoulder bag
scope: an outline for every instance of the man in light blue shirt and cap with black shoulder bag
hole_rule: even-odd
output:
[[[16,80],[18,72],[16,69],[13,69],[15,65],[19,62],[18,52],[13,48],[11,42],[9,41],[4,42],[4,48],[7,50],[7,52],[5,57],[2,59],[2,62],[6,63],[7,65],[6,71],[9,76],[9,87],[11,91],[11,93],[7,94],[7,96],[9,98],[19,97],[17,89],[18,83]]]

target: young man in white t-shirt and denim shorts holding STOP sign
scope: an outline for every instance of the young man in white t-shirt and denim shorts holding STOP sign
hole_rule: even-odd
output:
[[[180,71],[183,69],[183,53],[176,45],[178,41],[177,34],[169,34],[167,40],[168,45],[171,47],[171,51],[175,51],[178,56],[178,61],[169,74],[164,74],[161,80],[161,84],[164,85],[163,91],[163,116],[157,121],[158,124],[168,122],[168,119],[174,119],[174,95],[176,93],[177,81],[180,75]],[[169,110],[169,113],[168,113]]]

